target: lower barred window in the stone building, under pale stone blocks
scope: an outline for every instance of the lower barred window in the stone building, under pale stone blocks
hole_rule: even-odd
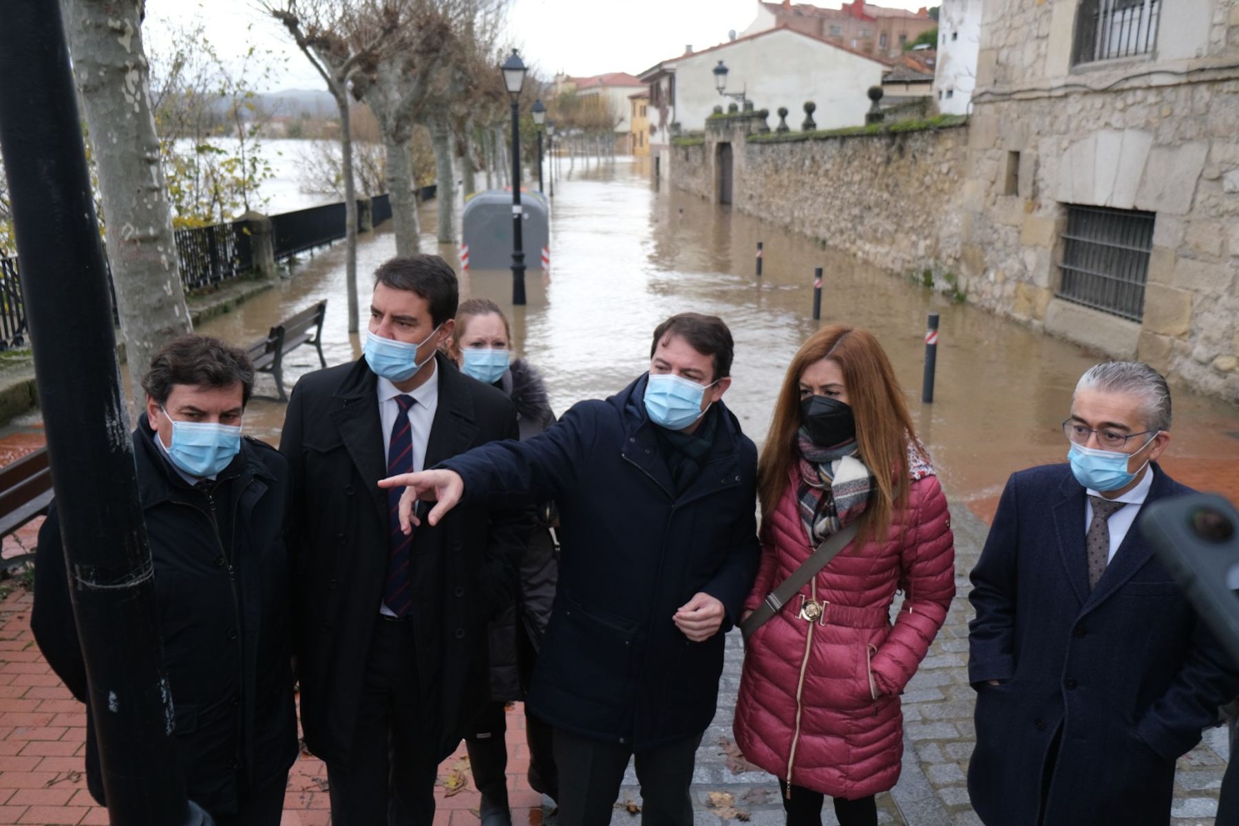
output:
[[[1068,206],[1058,297],[1140,321],[1155,218],[1151,212]]]

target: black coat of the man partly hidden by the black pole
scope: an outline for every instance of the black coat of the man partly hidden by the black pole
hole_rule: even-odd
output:
[[[134,431],[134,459],[155,563],[176,757],[191,800],[216,815],[234,812],[239,788],[278,780],[297,755],[284,544],[287,462],[247,437],[208,495],[155,446],[145,414]],[[35,639],[85,702],[55,503],[38,531],[36,567]],[[87,784],[103,802],[90,716],[87,707]]]

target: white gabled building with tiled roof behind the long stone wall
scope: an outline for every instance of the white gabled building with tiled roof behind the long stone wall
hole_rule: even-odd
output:
[[[779,107],[787,107],[788,125],[799,129],[804,103],[817,104],[813,118],[818,129],[856,126],[865,123],[869,110],[866,92],[881,85],[887,64],[836,46],[820,37],[787,27],[760,31],[700,52],[664,61],[643,78],[665,74],[673,63],[674,123],[683,131],[705,129],[706,118],[716,105],[732,99],[720,97],[714,69],[727,67],[727,92],[743,92],[756,109],[769,109],[769,125],[778,125]],[[655,72],[658,69],[658,72]],[[654,94],[650,92],[650,104]]]

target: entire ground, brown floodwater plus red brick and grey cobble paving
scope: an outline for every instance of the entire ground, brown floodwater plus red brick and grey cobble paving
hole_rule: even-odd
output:
[[[825,270],[823,322],[847,321],[882,341],[908,393],[921,437],[930,448],[952,499],[957,531],[959,597],[904,701],[903,775],[878,798],[882,824],[975,826],[964,773],[971,753],[971,689],[966,681],[966,572],[975,563],[1006,477],[1022,467],[1062,461],[1059,422],[1072,388],[1097,359],[1078,347],[1036,333],[968,305],[958,305],[912,280],[860,266],[807,238],[768,227],[684,193],[659,191],[648,168],[632,160],[584,165],[556,182],[551,269],[528,274],[529,305],[510,308],[510,272],[462,274],[465,296],[486,296],[512,310],[520,350],[546,376],[556,410],[579,399],[605,396],[647,367],[654,326],[683,310],[724,317],[736,338],[735,383],[727,404],[758,442],[772,401],[797,347],[815,328],[810,320],[813,267]],[[567,165],[564,165],[567,168]],[[422,212],[432,228],[434,204]],[[764,243],[764,274],[755,276],[757,241]],[[455,246],[422,234],[421,248],[458,267]],[[362,237],[358,250],[361,306],[368,305],[370,274],[394,255],[389,228]],[[247,344],[268,327],[327,298],[323,349],[328,364],[359,355],[347,333],[342,245],[299,261],[291,277],[212,318],[201,332]],[[922,405],[921,373],[926,315],[942,316],[938,384],[933,405]],[[364,313],[363,313],[364,322]],[[300,348],[287,360],[287,384],[316,369],[317,354]],[[259,393],[271,393],[270,376]],[[1239,410],[1176,389],[1173,442],[1163,466],[1180,480],[1239,499]],[[250,435],[278,442],[284,405],[256,399],[247,412]],[[0,431],[0,458],[41,443],[37,417]],[[10,459],[11,461],[11,459]],[[7,546],[28,535],[10,537]],[[82,789],[84,716],[58,685],[32,645],[30,598],[0,603],[0,824],[105,822]],[[742,659],[729,639],[720,708],[698,754],[694,796],[698,824],[782,824],[772,779],[747,772],[730,742],[731,711]],[[509,713],[509,779],[514,820],[548,820],[523,773],[519,705]],[[1177,826],[1212,822],[1227,757],[1220,729],[1180,760]],[[456,755],[441,769],[436,824],[477,822],[477,794],[461,780],[467,764]],[[639,804],[633,778],[621,793],[616,824],[637,819],[624,804]],[[731,795],[717,798],[711,795]],[[729,804],[730,800],[730,804]],[[733,804],[733,805],[732,805]],[[285,826],[327,822],[326,775],[310,757],[297,762],[289,783]],[[826,806],[825,824],[833,824]]]

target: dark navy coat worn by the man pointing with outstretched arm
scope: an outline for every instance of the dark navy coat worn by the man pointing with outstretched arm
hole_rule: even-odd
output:
[[[757,448],[716,404],[701,473],[675,494],[643,375],[584,401],[544,433],[444,463],[462,504],[554,499],[563,535],[559,591],[525,700],[540,719],[634,750],[696,736],[714,719],[725,632],[757,572]],[[696,592],[727,618],[690,643],[672,622]]]

